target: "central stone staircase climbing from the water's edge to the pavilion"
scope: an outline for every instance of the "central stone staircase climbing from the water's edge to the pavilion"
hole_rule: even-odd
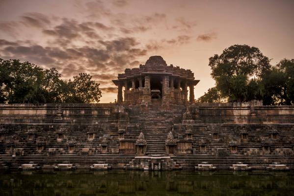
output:
[[[159,104],[141,109],[139,106],[129,107],[130,123],[138,124],[147,142],[147,154],[164,154],[167,134],[175,123],[181,123],[186,107],[170,106],[166,109]]]

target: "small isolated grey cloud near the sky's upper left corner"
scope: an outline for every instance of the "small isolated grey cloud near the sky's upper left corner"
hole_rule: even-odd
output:
[[[37,12],[26,13],[21,18],[21,23],[27,26],[42,28],[51,24],[48,16]]]

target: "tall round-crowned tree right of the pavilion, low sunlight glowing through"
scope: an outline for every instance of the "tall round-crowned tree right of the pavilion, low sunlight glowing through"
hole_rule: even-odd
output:
[[[253,93],[249,86],[256,86],[270,72],[269,59],[258,48],[248,45],[224,49],[222,54],[215,54],[209,59],[209,66],[221,96],[238,102],[258,98],[258,93]]]

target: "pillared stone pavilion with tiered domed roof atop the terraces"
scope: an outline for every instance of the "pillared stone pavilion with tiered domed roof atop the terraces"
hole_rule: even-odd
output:
[[[124,104],[193,102],[199,82],[190,70],[167,66],[161,56],[151,56],[145,65],[126,69],[112,81],[118,87],[117,102]]]

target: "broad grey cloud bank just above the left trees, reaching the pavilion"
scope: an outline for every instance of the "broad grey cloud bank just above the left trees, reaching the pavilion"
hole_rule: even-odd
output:
[[[2,58],[29,61],[43,68],[56,67],[66,78],[90,73],[99,81],[107,80],[108,84],[117,73],[138,66],[136,59],[144,55],[147,55],[147,49],[139,47],[134,37],[98,40],[96,45],[81,47],[44,47],[32,42],[0,40]]]

